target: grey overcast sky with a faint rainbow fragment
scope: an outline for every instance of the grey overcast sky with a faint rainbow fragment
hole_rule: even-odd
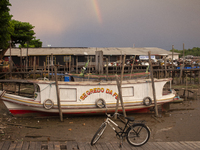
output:
[[[10,0],[43,47],[200,47],[200,0]]]

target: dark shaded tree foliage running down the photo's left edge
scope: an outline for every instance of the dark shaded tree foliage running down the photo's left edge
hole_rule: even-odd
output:
[[[11,6],[9,0],[0,1],[0,60],[9,47],[10,34],[13,31],[9,6]]]

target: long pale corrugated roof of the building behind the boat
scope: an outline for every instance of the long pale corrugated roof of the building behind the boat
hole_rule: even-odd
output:
[[[27,55],[27,48],[22,48],[22,56]],[[143,48],[132,48],[132,47],[123,47],[123,48],[95,48],[95,47],[42,47],[42,48],[28,48],[29,56],[41,56],[41,55],[95,55],[95,51],[103,51],[103,55],[148,55],[148,51],[151,51],[151,55],[161,55],[161,54],[172,54],[172,52],[157,48],[157,47],[143,47]],[[174,53],[178,54],[178,53]],[[5,56],[10,55],[10,50],[7,50]],[[12,56],[20,56],[19,48],[11,49]]]

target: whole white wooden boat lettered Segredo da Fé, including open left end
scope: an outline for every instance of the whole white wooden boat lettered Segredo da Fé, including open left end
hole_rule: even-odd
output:
[[[171,78],[155,79],[157,104],[173,101],[175,91],[165,91]],[[0,99],[13,115],[55,115],[59,113],[56,84],[46,80],[0,80]],[[125,80],[121,85],[126,111],[142,111],[154,107],[150,79]],[[118,97],[116,81],[58,82],[60,106],[63,114],[114,112]],[[120,105],[121,106],[121,105]],[[122,108],[119,106],[119,111]]]

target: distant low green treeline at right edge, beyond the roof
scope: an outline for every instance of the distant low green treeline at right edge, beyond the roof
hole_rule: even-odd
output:
[[[172,52],[172,50],[170,50]],[[180,53],[180,57],[183,56],[183,50],[177,50],[174,49],[174,52],[176,53]],[[184,55],[193,55],[193,56],[200,56],[200,48],[199,47],[193,47],[192,49],[185,49],[184,51]]]

